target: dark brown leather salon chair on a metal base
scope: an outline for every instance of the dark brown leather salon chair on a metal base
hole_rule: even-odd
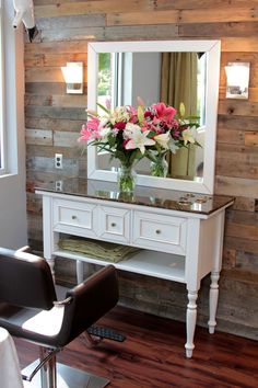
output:
[[[39,345],[39,364],[26,368],[31,375],[23,378],[31,383],[25,383],[25,387],[105,387],[109,381],[104,378],[98,381],[93,376],[91,380],[84,372],[57,365],[56,354],[83,332],[91,341],[86,330],[117,301],[118,282],[113,265],[67,290],[64,300],[57,301],[50,269],[43,258],[23,249],[0,248],[0,327]],[[33,377],[39,369],[40,378],[37,374],[34,385]]]

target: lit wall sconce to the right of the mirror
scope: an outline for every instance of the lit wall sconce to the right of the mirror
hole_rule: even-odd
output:
[[[226,99],[248,99],[249,62],[228,62],[226,71]]]

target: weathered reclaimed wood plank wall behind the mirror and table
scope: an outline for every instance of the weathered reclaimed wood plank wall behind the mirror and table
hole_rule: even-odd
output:
[[[34,186],[86,175],[77,138],[87,104],[90,41],[218,38],[222,43],[215,193],[236,196],[227,212],[220,282],[219,329],[256,338],[258,332],[258,1],[250,0],[34,0],[40,34],[25,44],[25,116],[30,242],[42,248],[42,201]],[[84,62],[84,94],[68,95],[60,66]],[[248,101],[225,100],[227,61],[250,62]],[[63,170],[54,155],[63,155]],[[62,278],[71,262],[58,262]],[[185,319],[183,285],[124,273],[121,303]],[[199,297],[199,324],[208,316],[209,279]]]

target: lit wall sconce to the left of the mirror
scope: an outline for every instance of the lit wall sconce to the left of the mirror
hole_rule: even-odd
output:
[[[83,94],[83,62],[67,62],[61,67],[68,94]]]

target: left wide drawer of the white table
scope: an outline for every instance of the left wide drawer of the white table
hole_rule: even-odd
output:
[[[54,230],[96,237],[96,205],[54,199]]]

